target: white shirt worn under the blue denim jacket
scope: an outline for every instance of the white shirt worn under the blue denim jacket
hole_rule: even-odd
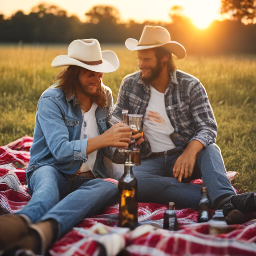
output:
[[[95,111],[97,109],[98,105],[93,102],[90,110],[86,113],[83,113],[83,125],[81,130],[81,136],[80,139],[86,138],[86,135],[88,138],[94,138],[100,135],[96,120]],[[85,127],[86,126],[86,127]],[[84,162],[81,166],[81,169],[79,172],[86,172],[89,170],[93,170],[95,161],[97,157],[97,151],[92,152],[87,156],[87,162]]]

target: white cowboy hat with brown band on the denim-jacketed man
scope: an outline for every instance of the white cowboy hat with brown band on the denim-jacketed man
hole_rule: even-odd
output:
[[[98,73],[110,73],[118,69],[119,59],[113,51],[101,51],[96,39],[75,40],[68,46],[67,55],[53,59],[52,67],[81,66]]]

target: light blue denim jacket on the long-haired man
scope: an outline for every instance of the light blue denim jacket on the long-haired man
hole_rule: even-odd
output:
[[[103,85],[104,86],[104,85]],[[96,109],[96,120],[100,134],[107,130],[106,120],[113,104],[111,90],[104,86],[107,107]],[[88,138],[80,140],[83,124],[82,111],[75,99],[67,99],[59,88],[49,88],[40,97],[35,118],[34,139],[30,150],[31,159],[27,168],[27,179],[43,165],[50,165],[65,174],[74,174],[87,161]],[[103,158],[113,156],[110,148],[97,152],[92,172],[95,177],[107,177]],[[118,162],[116,162],[118,163]]]

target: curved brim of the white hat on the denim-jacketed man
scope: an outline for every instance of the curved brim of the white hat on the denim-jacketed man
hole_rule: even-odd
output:
[[[88,65],[84,64],[81,61],[70,58],[67,55],[60,55],[53,59],[51,66],[54,68],[64,67],[64,66],[81,66],[93,72],[98,73],[111,73],[118,69],[119,59],[116,54],[111,50],[102,51],[102,64],[99,65]]]

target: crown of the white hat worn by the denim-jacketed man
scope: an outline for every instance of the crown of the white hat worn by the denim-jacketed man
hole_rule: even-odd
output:
[[[79,61],[102,61],[100,44],[96,39],[75,40],[71,42],[67,55]]]

